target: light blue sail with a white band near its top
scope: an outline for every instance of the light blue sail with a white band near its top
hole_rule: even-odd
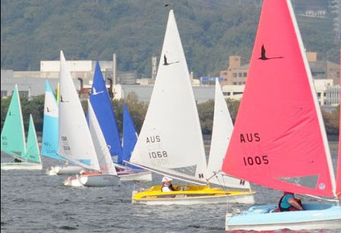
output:
[[[42,125],[42,156],[64,160],[58,156],[58,104],[49,81],[45,81],[44,122]]]

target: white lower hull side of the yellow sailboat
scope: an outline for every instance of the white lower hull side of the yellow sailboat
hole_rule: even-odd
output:
[[[134,195],[134,193],[133,193]],[[226,195],[219,197],[186,197],[186,198],[164,198],[164,199],[132,199],[133,204],[144,205],[197,205],[197,204],[220,204],[220,203],[240,203],[240,204],[254,204],[253,195],[238,195],[228,197]]]

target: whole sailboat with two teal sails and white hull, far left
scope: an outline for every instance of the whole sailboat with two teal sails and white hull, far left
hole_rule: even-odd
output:
[[[14,87],[5,123],[1,131],[1,152],[8,154],[18,162],[1,162],[1,170],[41,170],[38,140],[32,116],[29,116],[27,145],[18,86]],[[21,161],[21,162],[19,162]]]

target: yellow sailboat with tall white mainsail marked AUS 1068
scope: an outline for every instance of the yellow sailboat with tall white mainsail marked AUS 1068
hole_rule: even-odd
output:
[[[207,185],[207,164],[184,50],[173,10],[170,10],[159,69],[149,108],[130,164],[197,185],[161,186],[136,192],[138,204],[207,204],[225,202],[228,195],[252,192],[225,191]],[[233,199],[231,199],[233,201]]]

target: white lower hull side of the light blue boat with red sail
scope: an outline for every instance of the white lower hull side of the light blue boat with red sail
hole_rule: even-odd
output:
[[[227,218],[229,215],[227,214]],[[260,225],[226,225],[225,230],[320,230],[320,229],[341,229],[341,219],[324,220],[324,221],[302,221],[295,223],[272,223]]]

